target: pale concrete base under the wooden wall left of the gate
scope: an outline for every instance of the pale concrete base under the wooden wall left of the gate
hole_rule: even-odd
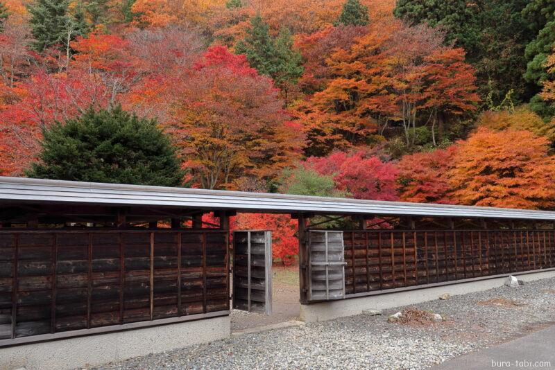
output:
[[[0,349],[0,369],[62,370],[87,367],[220,340],[230,317],[213,317]]]

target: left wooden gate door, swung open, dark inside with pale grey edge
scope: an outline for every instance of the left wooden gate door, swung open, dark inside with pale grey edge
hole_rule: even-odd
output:
[[[234,231],[233,308],[272,313],[272,232]]]

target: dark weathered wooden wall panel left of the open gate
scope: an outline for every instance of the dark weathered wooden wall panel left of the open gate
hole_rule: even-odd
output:
[[[0,340],[228,309],[227,231],[0,231]]]

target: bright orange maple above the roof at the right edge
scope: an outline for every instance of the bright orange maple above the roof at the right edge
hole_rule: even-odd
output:
[[[479,128],[459,143],[450,170],[460,204],[522,209],[555,205],[555,157],[549,141],[528,131]]]

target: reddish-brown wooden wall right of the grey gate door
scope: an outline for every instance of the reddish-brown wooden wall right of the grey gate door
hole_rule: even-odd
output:
[[[553,230],[344,231],[345,293],[555,267]]]

